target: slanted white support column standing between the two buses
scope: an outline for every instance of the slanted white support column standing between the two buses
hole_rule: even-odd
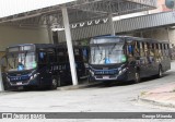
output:
[[[68,47],[70,70],[72,74],[72,84],[78,85],[78,76],[77,76],[77,70],[75,70],[72,38],[71,38],[70,25],[69,25],[69,19],[68,19],[68,10],[66,7],[62,7],[61,10],[62,10],[66,40],[67,40],[67,47]]]

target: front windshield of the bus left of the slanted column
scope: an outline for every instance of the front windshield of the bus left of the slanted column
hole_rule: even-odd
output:
[[[8,71],[23,71],[36,68],[35,53],[22,52],[22,53],[9,53]]]

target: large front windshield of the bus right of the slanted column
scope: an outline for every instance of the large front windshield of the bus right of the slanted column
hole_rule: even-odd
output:
[[[126,57],[122,50],[124,44],[94,45],[91,47],[91,64],[122,63]]]

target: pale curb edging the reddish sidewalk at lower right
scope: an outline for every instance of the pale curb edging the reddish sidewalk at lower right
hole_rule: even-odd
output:
[[[175,105],[173,105],[171,102],[161,102],[161,101],[156,101],[156,100],[150,100],[150,99],[147,99],[147,98],[142,98],[140,96],[138,98],[138,101],[145,102],[145,103],[151,103],[151,105],[154,105],[154,106],[168,107],[168,108],[175,109]]]

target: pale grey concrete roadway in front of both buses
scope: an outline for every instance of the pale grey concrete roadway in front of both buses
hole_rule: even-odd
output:
[[[174,84],[175,62],[162,78],[139,84],[103,84],[77,90],[27,90],[0,94],[1,112],[170,112],[174,110],[137,102],[142,91]],[[66,87],[69,89],[69,87]],[[144,94],[144,93],[142,93]]]

